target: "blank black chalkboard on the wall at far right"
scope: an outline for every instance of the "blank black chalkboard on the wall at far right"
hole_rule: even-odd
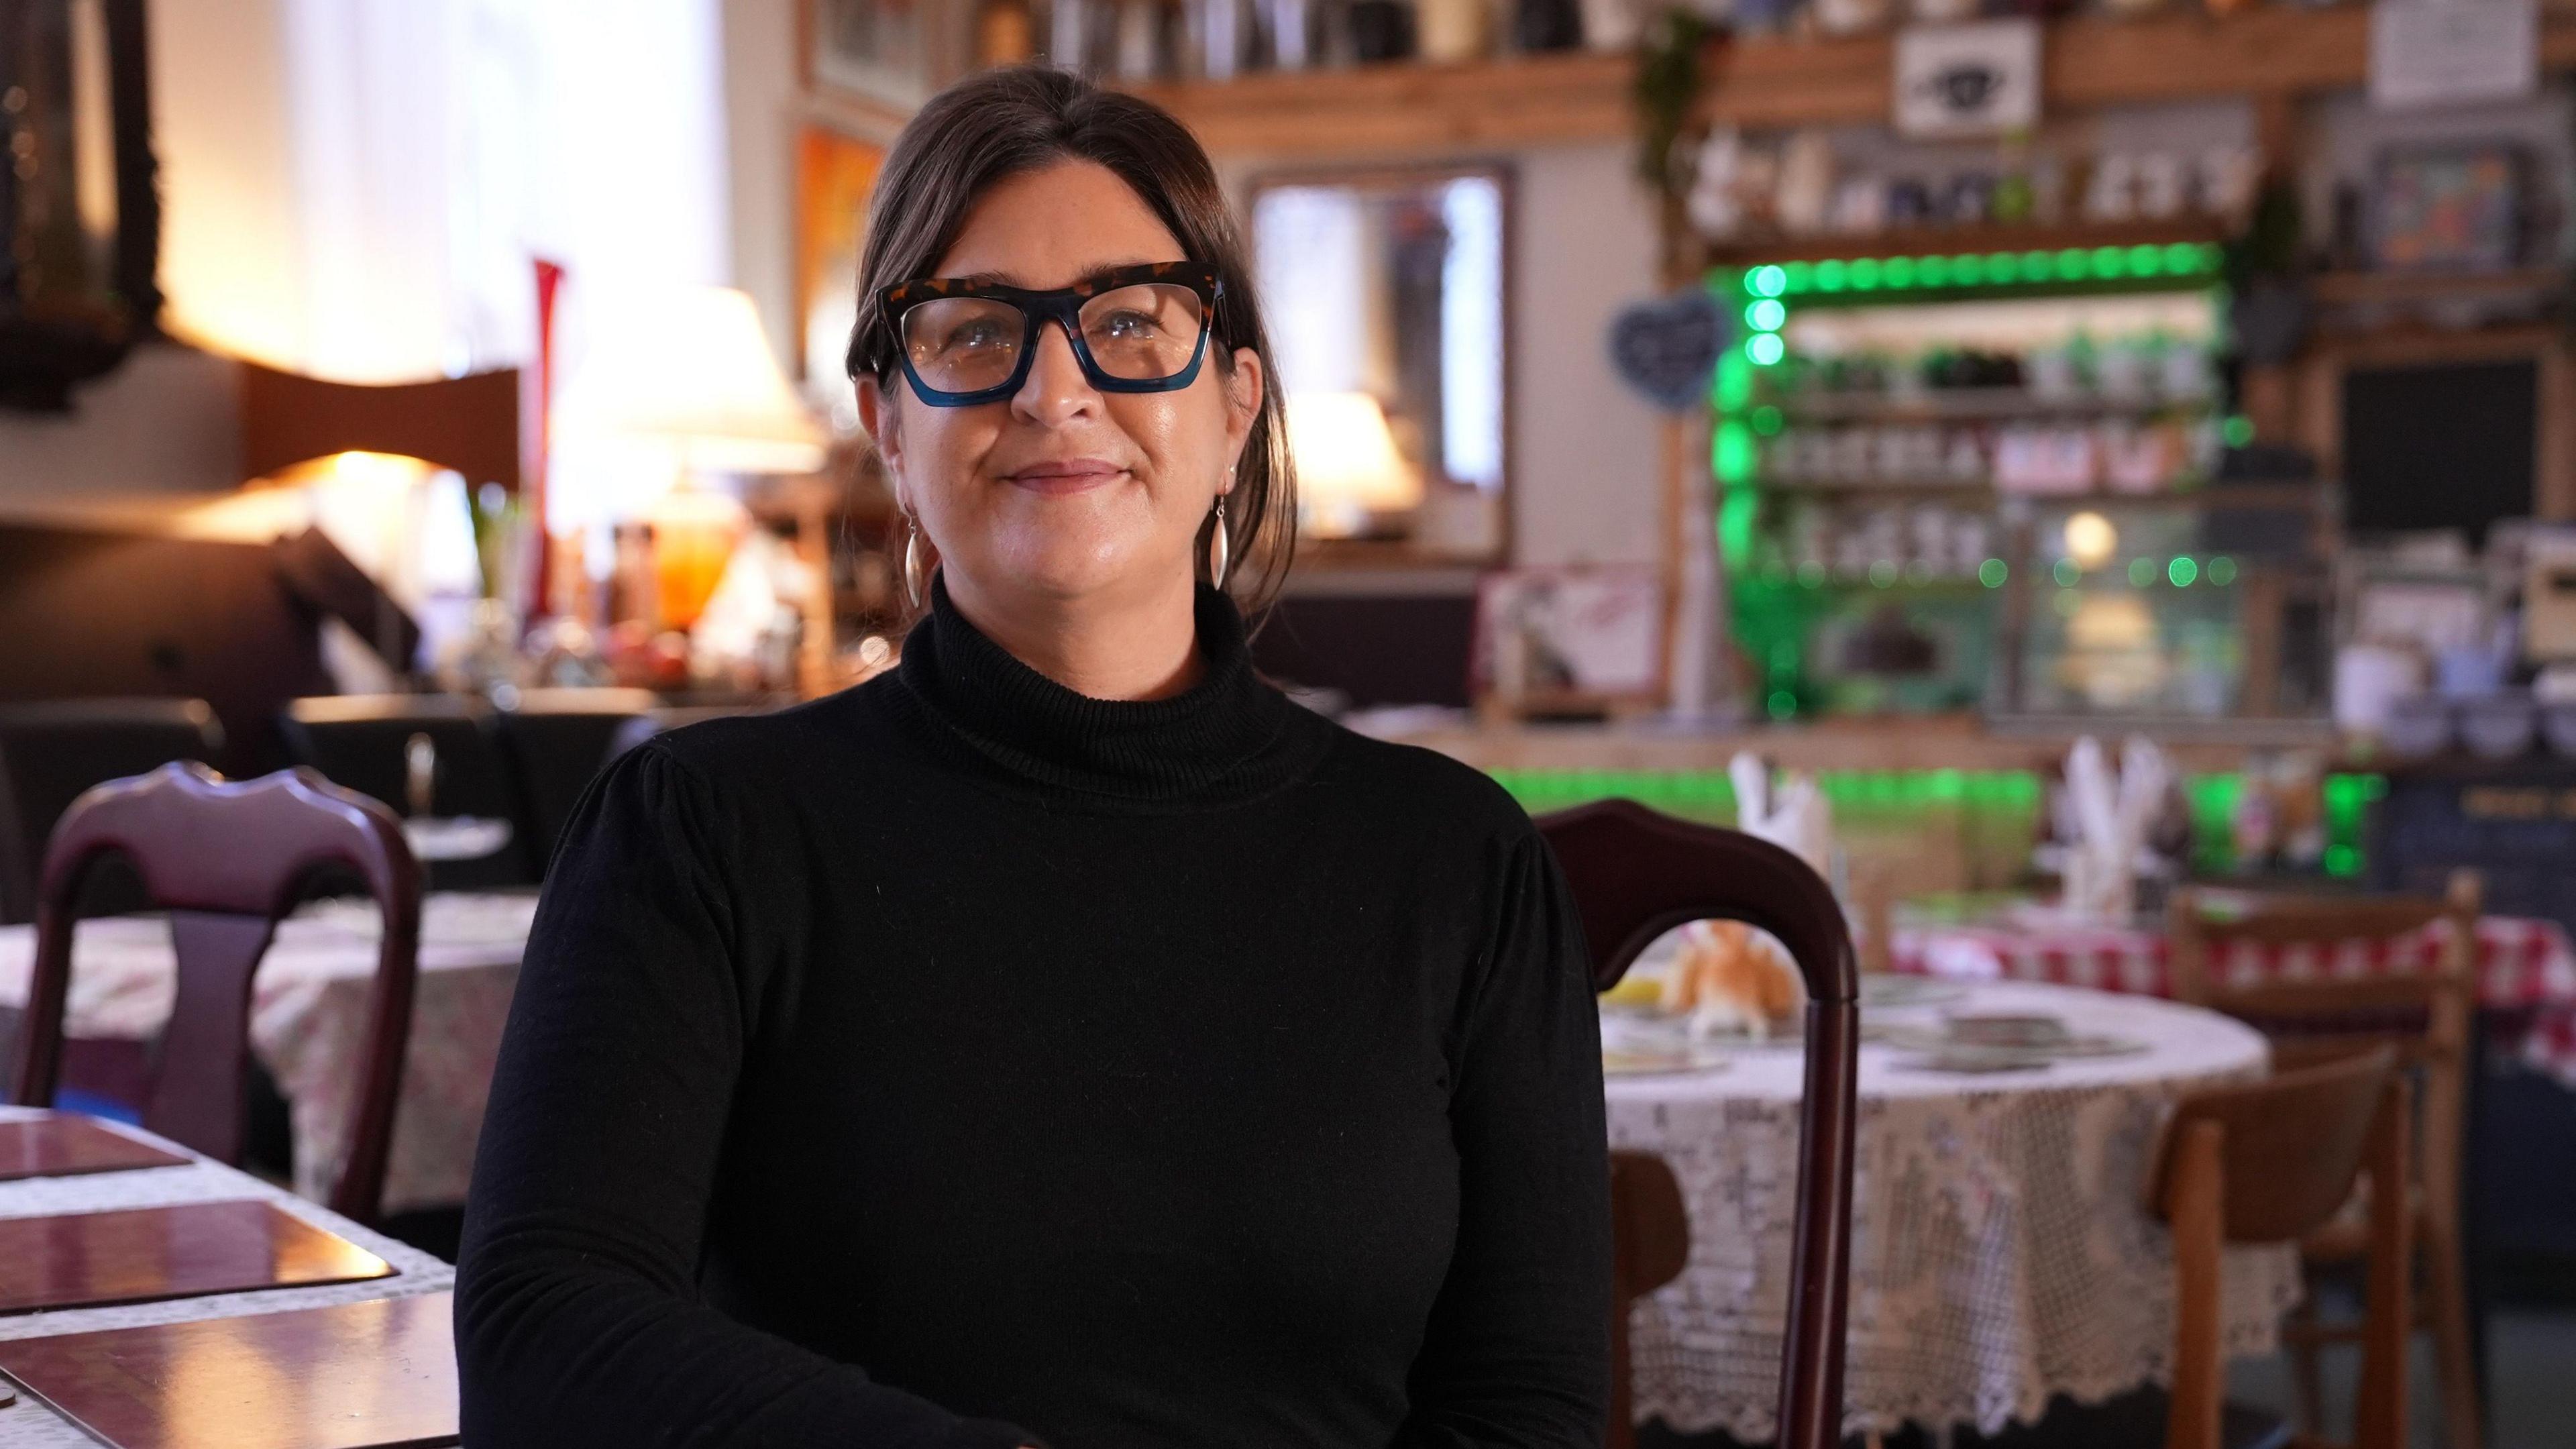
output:
[[[2532,358],[2344,374],[2344,526],[2460,529],[2486,541],[2532,516],[2540,364]]]

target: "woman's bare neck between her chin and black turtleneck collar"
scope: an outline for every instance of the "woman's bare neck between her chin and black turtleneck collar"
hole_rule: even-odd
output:
[[[940,570],[948,601],[1023,665],[1090,699],[1170,699],[1200,676],[1195,588],[1175,575],[1108,596],[997,593]]]

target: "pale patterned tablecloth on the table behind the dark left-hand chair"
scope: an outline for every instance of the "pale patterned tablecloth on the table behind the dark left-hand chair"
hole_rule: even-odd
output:
[[[474,1173],[500,1031],[518,990],[536,895],[435,892],[420,910],[420,987],[402,1060],[384,1209],[453,1207]],[[250,1044],[286,1093],[296,1191],[327,1199],[348,1150],[348,1093],[366,1042],[381,920],[327,900],[278,923],[250,993]],[[0,928],[0,1008],[26,1006],[31,926]],[[170,1021],[170,928],[160,915],[82,920],[72,933],[72,1036],[144,1042]],[[5,1049],[5,1039],[0,1039]]]

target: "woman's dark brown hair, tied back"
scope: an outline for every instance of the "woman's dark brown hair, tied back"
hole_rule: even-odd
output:
[[[866,371],[881,384],[894,382],[899,340],[878,294],[896,281],[930,276],[994,183],[1064,160],[1113,170],[1180,237],[1188,260],[1216,268],[1224,281],[1211,338],[1216,364],[1231,371],[1234,348],[1252,348],[1262,358],[1262,405],[1234,469],[1234,492],[1226,495],[1226,547],[1234,554],[1229,578],[1249,580],[1231,593],[1247,614],[1260,614],[1278,598],[1296,557],[1296,467],[1288,459],[1278,366],[1270,361],[1244,240],[1216,168],[1188,126],[1162,106],[1041,64],[987,70],[933,95],[894,139],[868,201],[850,376]],[[1208,557],[1213,526],[1211,518],[1200,529],[1200,559]]]

